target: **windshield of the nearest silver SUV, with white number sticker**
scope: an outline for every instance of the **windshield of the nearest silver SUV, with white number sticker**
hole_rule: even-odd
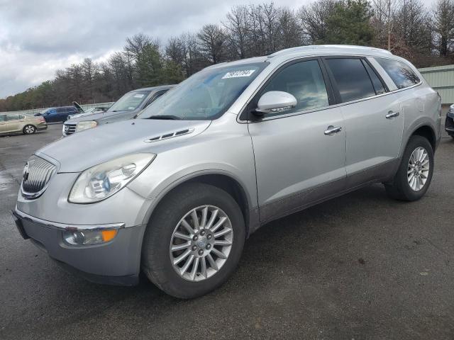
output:
[[[139,118],[216,119],[267,65],[256,62],[202,70],[148,106]]]

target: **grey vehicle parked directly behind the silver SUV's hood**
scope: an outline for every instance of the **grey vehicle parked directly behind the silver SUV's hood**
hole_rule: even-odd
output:
[[[98,125],[135,118],[144,108],[174,86],[162,85],[130,91],[118,99],[106,112],[84,115],[78,118],[72,117],[67,120],[63,125],[62,134],[69,136],[74,132],[96,128]]]

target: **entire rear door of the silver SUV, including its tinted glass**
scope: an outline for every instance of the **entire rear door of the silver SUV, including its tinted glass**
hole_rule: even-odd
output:
[[[398,94],[387,88],[361,57],[326,57],[328,73],[345,120],[348,188],[386,179],[397,160],[404,115]]]

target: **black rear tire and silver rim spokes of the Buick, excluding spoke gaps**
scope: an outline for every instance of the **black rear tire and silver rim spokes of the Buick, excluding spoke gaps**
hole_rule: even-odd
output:
[[[414,188],[412,188],[409,182],[411,174],[407,175],[407,171],[414,169],[409,164],[410,157],[413,152],[416,152],[416,150],[421,150],[421,148],[426,151],[426,158],[422,163],[426,162],[426,160],[428,159],[428,171],[425,171],[425,168],[421,167],[421,164],[418,165],[418,169],[421,169],[423,176],[426,176],[426,182],[423,184],[421,183],[421,181],[423,181],[422,177],[421,181],[418,181],[418,179],[415,178],[412,182],[414,184]],[[391,198],[407,201],[419,200],[424,196],[424,194],[428,190],[428,187],[431,185],[432,175],[433,149],[431,143],[429,143],[425,137],[412,136],[410,137],[410,140],[406,145],[401,164],[399,166],[399,169],[397,170],[396,175],[394,176],[392,183],[386,183],[384,187],[386,188],[388,196]],[[416,188],[416,183],[414,181],[416,181],[417,185],[421,186],[421,188]]]

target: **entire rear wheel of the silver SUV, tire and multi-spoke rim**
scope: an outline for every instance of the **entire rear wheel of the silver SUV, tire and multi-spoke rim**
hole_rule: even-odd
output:
[[[401,164],[392,183],[386,183],[387,194],[397,200],[419,200],[431,184],[433,149],[421,136],[412,136],[406,145]]]

